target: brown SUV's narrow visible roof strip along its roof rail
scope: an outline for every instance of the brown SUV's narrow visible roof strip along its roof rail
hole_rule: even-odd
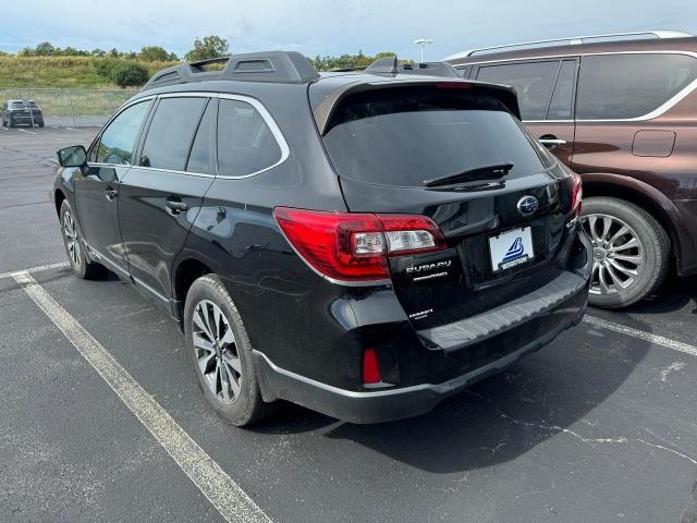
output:
[[[445,60],[455,66],[468,63],[521,60],[559,56],[578,56],[599,52],[639,52],[639,51],[697,51],[697,37],[632,39],[595,41],[584,44],[533,46],[524,49],[467,51],[453,54]],[[462,54],[462,56],[461,56]]]

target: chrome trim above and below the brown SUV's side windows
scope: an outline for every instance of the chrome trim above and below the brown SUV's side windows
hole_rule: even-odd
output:
[[[504,58],[500,60],[484,60],[481,62],[467,62],[461,63],[455,66],[455,69],[464,69],[468,65],[482,65],[482,64],[494,64],[494,63],[506,63],[506,62],[523,62],[523,61],[534,61],[534,60],[545,60],[545,59],[564,59],[564,58],[583,58],[583,57],[602,57],[602,56],[613,56],[613,54],[685,54],[687,57],[692,57],[697,59],[697,52],[694,51],[682,51],[682,50],[664,50],[664,51],[606,51],[606,52],[574,52],[570,54],[549,54],[549,56],[538,56],[538,57],[524,57],[524,58]],[[674,94],[671,98],[665,100],[659,107],[653,109],[650,112],[647,112],[640,117],[633,118],[614,118],[614,119],[576,119],[576,120],[524,120],[524,123],[562,123],[562,122],[576,122],[576,123],[598,123],[598,122],[644,122],[647,120],[653,120],[655,118],[660,117],[661,114],[668,112],[670,109],[675,107],[677,104],[683,101],[689,94],[692,94],[697,88],[697,78],[683,87],[680,92]]]

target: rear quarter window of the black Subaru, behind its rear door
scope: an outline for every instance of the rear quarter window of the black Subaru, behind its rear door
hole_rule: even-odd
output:
[[[244,177],[274,166],[282,151],[271,129],[254,106],[220,99],[218,109],[218,172]]]

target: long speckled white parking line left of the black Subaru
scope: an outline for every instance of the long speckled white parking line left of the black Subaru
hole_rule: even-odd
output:
[[[133,376],[27,271],[14,272],[12,277],[227,521],[271,521]]]

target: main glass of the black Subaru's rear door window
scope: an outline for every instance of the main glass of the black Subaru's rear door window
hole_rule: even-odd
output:
[[[143,144],[143,167],[183,171],[207,98],[162,98]]]

